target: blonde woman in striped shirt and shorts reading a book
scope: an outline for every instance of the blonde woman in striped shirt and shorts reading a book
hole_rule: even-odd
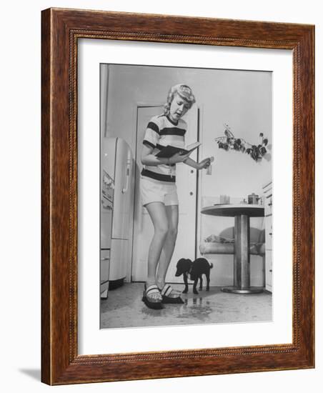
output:
[[[141,163],[141,200],[154,225],[154,237],[148,254],[148,274],[143,302],[151,309],[162,309],[164,303],[183,303],[180,292],[165,283],[172,259],[179,221],[176,186],[176,164],[184,162],[195,169],[207,168],[211,158],[197,163],[189,154],[159,158],[163,146],[183,147],[187,123],[182,116],[195,102],[192,89],[185,84],[172,86],[164,106],[164,114],[149,121],[143,141]]]

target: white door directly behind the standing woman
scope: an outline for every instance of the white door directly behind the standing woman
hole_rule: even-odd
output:
[[[141,205],[139,181],[142,169],[140,157],[146,125],[152,116],[162,113],[162,106],[139,107],[136,130],[136,186],[134,204],[134,244],[132,259],[132,281],[144,281],[147,274],[149,244],[154,234],[148,212]],[[193,106],[183,118],[188,130],[185,143],[197,141],[197,107]],[[191,155],[197,158],[197,152]],[[179,231],[172,261],[167,272],[167,282],[182,282],[175,277],[176,264],[180,258],[195,259],[196,252],[196,210],[197,210],[197,171],[186,164],[177,164],[177,192],[179,195]]]

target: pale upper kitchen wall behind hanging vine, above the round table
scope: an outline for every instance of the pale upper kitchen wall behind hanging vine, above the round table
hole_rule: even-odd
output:
[[[262,182],[271,176],[270,161],[264,159],[256,164],[247,154],[224,152],[217,149],[213,139],[224,135],[223,124],[228,123],[236,136],[255,144],[263,132],[270,144],[270,73],[116,65],[110,65],[109,69],[106,136],[119,135],[133,146],[136,105],[163,104],[169,86],[184,81],[192,86],[197,105],[202,107],[202,156],[216,157],[216,170],[205,177],[203,194],[214,194],[214,184],[217,194],[237,197],[247,197],[252,191],[260,194]]]

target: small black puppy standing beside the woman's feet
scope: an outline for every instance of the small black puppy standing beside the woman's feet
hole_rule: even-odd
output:
[[[177,272],[175,273],[176,277],[179,277],[183,274],[185,289],[183,294],[187,294],[189,292],[189,285],[187,284],[187,277],[189,275],[189,279],[194,281],[193,285],[193,293],[198,294],[197,292],[197,282],[199,280],[199,289],[202,289],[202,274],[205,274],[207,277],[207,291],[209,291],[209,271],[212,269],[213,264],[209,264],[207,259],[205,258],[197,258],[194,262],[191,259],[179,259],[177,262]]]

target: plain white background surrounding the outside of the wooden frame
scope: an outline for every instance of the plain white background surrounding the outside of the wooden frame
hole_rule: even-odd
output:
[[[317,204],[316,369],[109,384],[47,387],[40,369],[40,11],[49,6],[317,24],[317,129],[322,129],[323,16],[320,1],[199,0],[6,1],[1,20],[1,389],[4,392],[320,392],[322,204]],[[17,104],[19,114],[17,114]],[[317,200],[322,196],[323,134],[317,132]],[[21,192],[25,190],[22,197]]]

